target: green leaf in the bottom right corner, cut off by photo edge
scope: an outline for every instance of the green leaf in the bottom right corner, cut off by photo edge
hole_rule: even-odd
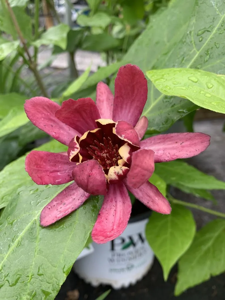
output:
[[[179,261],[175,295],[225,271],[225,220],[214,220],[196,233]]]

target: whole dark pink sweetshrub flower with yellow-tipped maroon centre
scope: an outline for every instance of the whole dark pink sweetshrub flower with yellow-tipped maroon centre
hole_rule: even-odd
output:
[[[42,210],[42,226],[70,214],[90,195],[104,195],[91,235],[97,243],[110,241],[128,224],[128,190],[148,208],[170,214],[169,202],[148,181],[154,163],[197,155],[209,146],[210,137],[173,133],[140,141],[148,127],[148,119],[140,118],[147,92],[143,72],[127,64],[117,74],[115,96],[98,83],[96,104],[91,98],[69,99],[61,107],[44,97],[26,101],[31,122],[68,146],[67,153],[30,152],[26,171],[37,184],[73,181]]]

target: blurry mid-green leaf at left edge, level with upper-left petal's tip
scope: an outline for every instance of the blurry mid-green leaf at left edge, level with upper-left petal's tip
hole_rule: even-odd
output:
[[[23,111],[23,105],[26,99],[27,96],[17,93],[0,94],[0,119],[5,117],[12,108]]]

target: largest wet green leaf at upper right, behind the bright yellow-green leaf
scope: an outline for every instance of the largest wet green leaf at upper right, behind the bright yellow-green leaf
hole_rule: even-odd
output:
[[[168,9],[151,17],[125,58],[144,73],[171,67],[201,68],[217,73],[224,69],[225,45],[221,43],[224,18],[223,1],[219,4],[209,0],[170,1]],[[150,80],[148,88],[143,115],[149,119],[148,129],[152,133],[165,131],[196,109],[190,101],[161,94]]]

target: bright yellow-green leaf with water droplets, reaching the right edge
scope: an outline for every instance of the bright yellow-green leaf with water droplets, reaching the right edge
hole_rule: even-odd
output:
[[[197,69],[162,69],[148,71],[147,76],[165,95],[189,99],[194,104],[225,113],[225,76]]]

